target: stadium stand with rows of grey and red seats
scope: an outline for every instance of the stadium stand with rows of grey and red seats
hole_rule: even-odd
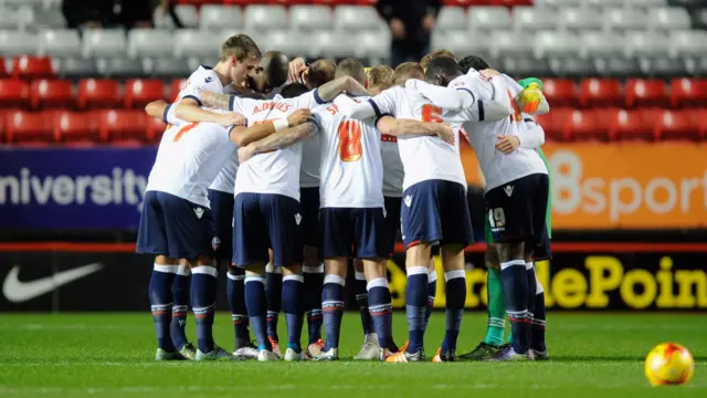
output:
[[[390,33],[374,2],[179,0],[183,29],[158,9],[155,29],[77,31],[65,29],[57,1],[0,0],[9,17],[0,22],[0,137],[30,145],[159,139],[163,124],[139,108],[172,100],[191,70],[217,59],[218,48],[203,43],[236,32],[291,55],[386,60]],[[433,48],[541,77],[552,106],[539,117],[548,139],[705,138],[707,0],[443,4]]]

